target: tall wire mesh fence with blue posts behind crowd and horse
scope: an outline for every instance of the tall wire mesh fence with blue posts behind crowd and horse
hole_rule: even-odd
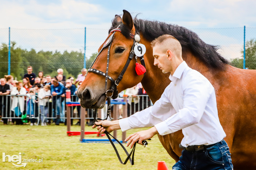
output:
[[[219,45],[220,54],[239,68],[256,69],[256,28],[191,29],[208,44]],[[27,66],[36,74],[55,76],[58,68],[64,75],[77,76],[89,68],[94,53],[105,41],[108,29],[16,29],[0,28],[0,77],[10,71],[21,79]],[[244,54],[245,50],[245,54]],[[9,58],[8,60],[8,56]],[[245,57],[244,57],[245,56]],[[84,60],[86,58],[86,60]],[[10,64],[10,70],[8,70]]]

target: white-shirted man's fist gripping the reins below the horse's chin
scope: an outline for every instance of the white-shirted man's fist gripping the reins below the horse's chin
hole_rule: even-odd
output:
[[[119,120],[109,121],[109,120],[103,120],[100,122],[95,122],[96,125],[93,125],[92,128],[97,127],[98,131],[103,134],[105,131],[108,131],[109,133],[113,130],[120,129],[119,126]]]

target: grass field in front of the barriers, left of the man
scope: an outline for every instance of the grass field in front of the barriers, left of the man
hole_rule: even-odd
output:
[[[147,128],[144,128],[145,130]],[[80,126],[71,126],[72,131],[80,131]],[[142,129],[127,131],[126,136]],[[0,169],[23,169],[12,163],[2,160],[2,152],[5,155],[22,154],[23,159],[43,159],[43,162],[27,162],[24,169],[157,169],[157,161],[165,161],[168,168],[172,169],[175,161],[168,155],[157,136],[148,141],[148,147],[136,145],[134,165],[130,162],[126,165],[119,163],[115,151],[110,143],[81,143],[80,136],[67,136],[67,127],[60,126],[29,126],[29,125],[3,125],[0,123]],[[96,131],[86,126],[85,131]],[[97,137],[86,135],[86,139]],[[118,131],[118,139],[121,140],[121,131]],[[118,147],[122,160],[126,155],[121,147]],[[128,150],[128,149],[127,149]],[[130,149],[128,150],[130,152]],[[20,164],[21,165],[21,164]]]

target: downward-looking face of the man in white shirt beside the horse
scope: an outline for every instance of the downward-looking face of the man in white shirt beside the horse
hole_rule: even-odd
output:
[[[162,70],[163,73],[170,72],[170,65],[167,52],[163,52],[160,45],[153,47],[154,65]]]

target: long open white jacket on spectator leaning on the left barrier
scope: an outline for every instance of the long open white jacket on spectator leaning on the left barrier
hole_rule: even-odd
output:
[[[13,87],[13,90],[11,91],[11,95],[26,95],[26,89],[24,87],[20,88],[20,90],[17,90],[17,87]],[[25,98],[24,96],[13,96],[13,102],[12,102],[12,108],[11,110],[14,111],[14,108],[18,106],[19,103],[19,108],[20,112],[24,111],[24,104],[25,104]]]

